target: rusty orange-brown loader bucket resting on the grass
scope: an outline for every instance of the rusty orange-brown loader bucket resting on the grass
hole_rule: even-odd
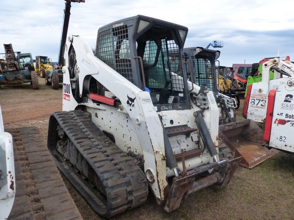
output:
[[[243,157],[240,165],[246,168],[255,167],[278,153],[262,145],[263,130],[249,119],[220,125],[218,136],[235,152],[235,157]]]

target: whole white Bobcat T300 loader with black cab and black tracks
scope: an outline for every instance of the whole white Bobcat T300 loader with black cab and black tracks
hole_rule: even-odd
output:
[[[101,216],[143,204],[148,186],[173,211],[187,194],[227,185],[240,163],[218,148],[213,92],[187,80],[187,32],[138,15],[99,28],[95,55],[79,36],[66,41],[63,111],[50,116],[48,148]]]

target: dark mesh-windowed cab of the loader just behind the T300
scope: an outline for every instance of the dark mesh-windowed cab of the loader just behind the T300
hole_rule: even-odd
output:
[[[215,60],[219,57],[219,50],[209,50],[202,47],[184,48],[185,61],[191,63],[194,82],[198,86],[206,84],[207,88],[213,91],[216,96],[216,65]],[[190,68],[186,65],[188,80],[190,79]]]

